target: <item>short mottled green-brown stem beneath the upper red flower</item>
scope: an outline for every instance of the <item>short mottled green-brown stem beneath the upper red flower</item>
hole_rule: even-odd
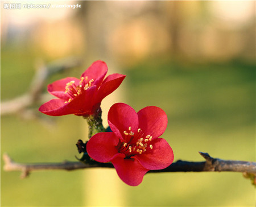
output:
[[[89,115],[87,117],[84,117],[88,123],[88,138],[90,139],[94,134],[105,132],[106,129],[102,125],[102,119],[101,119],[101,109],[96,114]]]

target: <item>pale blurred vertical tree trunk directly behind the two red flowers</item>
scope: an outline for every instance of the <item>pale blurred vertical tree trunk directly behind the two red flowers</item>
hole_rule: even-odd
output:
[[[105,1],[82,1],[79,20],[85,39],[85,64],[88,67],[93,61],[103,60],[109,68],[108,74],[120,73],[117,61],[111,55],[108,39],[115,27],[115,19],[109,14]],[[121,94],[115,91],[106,97],[101,104],[102,119],[107,124],[108,109],[115,102],[120,102]],[[87,135],[85,134],[84,137]],[[84,191],[86,206],[123,206],[126,203],[123,197],[123,188],[115,171],[109,169],[92,169],[85,172]],[[102,185],[109,186],[105,192]],[[113,199],[114,198],[114,199]]]

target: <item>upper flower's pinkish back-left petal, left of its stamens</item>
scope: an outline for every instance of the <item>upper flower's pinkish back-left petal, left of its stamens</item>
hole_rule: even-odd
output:
[[[79,85],[79,80],[75,77],[67,77],[61,80],[57,80],[52,84],[48,85],[48,92],[51,93],[53,96],[61,98],[63,100],[68,100],[70,97],[67,93],[65,93],[66,84],[70,81],[75,81],[76,85]]]

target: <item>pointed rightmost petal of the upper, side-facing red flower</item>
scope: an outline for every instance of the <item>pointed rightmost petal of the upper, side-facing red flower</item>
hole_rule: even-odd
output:
[[[106,77],[98,89],[95,102],[101,102],[103,98],[117,89],[122,83],[123,79],[125,79],[125,75],[118,73],[110,74],[108,77]]]

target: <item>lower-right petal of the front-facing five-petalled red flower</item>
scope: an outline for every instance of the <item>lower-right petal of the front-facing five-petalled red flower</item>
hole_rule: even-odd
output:
[[[147,169],[164,169],[174,161],[174,152],[168,142],[156,138],[151,142],[153,148],[141,155],[135,155],[139,162]]]

